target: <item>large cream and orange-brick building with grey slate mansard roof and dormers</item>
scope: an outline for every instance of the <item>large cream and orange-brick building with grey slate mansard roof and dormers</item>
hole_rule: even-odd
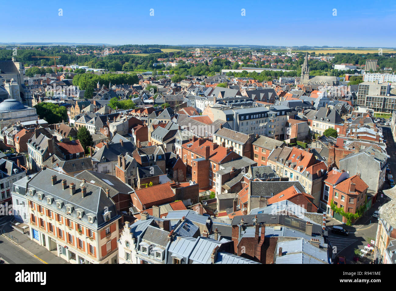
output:
[[[49,168],[13,183],[26,198],[30,239],[74,264],[116,264],[119,238],[109,189]]]

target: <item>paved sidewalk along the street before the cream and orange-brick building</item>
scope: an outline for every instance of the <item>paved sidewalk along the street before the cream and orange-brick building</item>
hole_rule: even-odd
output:
[[[2,234],[2,236],[4,238],[19,246],[29,255],[36,257],[43,264],[68,264],[68,262],[66,262],[64,259],[48,251],[45,247],[39,245],[38,243],[30,240],[30,238],[25,234],[21,234],[20,232],[11,228],[10,224],[4,225],[3,230],[4,234]],[[14,239],[10,238],[10,236],[12,236]]]

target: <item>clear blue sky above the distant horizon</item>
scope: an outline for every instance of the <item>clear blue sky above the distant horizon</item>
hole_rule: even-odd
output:
[[[2,0],[0,42],[389,48],[395,18],[391,0]]]

